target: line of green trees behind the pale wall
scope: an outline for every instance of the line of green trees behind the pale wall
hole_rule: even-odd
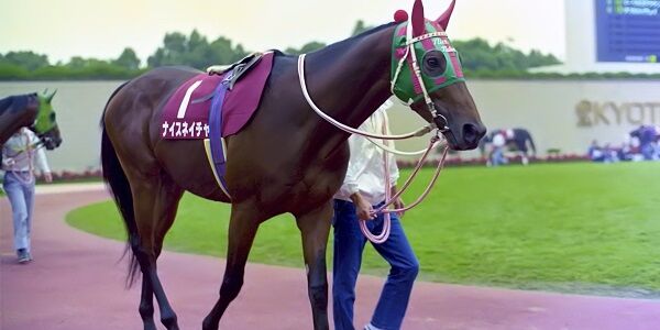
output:
[[[360,20],[352,35],[360,34],[373,26]],[[463,69],[468,78],[484,79],[660,79],[660,75],[616,74],[571,74],[530,73],[530,68],[556,65],[559,59],[551,54],[531,51],[525,54],[505,43],[488,44],[483,38],[453,41],[459,50]],[[326,44],[311,41],[300,48],[288,47],[285,53],[298,55],[311,53]],[[103,61],[73,57],[68,63],[51,64],[45,55],[33,52],[9,52],[0,54],[0,80],[40,80],[40,79],[128,79],[145,70],[166,65],[184,65],[206,69],[210,65],[231,64],[249,51],[241,44],[219,36],[209,42],[206,36],[194,30],[189,35],[179,32],[165,34],[163,44],[141,67],[135,52],[127,47],[118,58]]]

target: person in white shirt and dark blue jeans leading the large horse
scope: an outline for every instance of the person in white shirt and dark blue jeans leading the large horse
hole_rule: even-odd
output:
[[[386,101],[361,127],[371,133],[389,133],[387,113],[392,101]],[[332,271],[332,298],[334,329],[353,328],[353,302],[355,282],[362,264],[362,252],[366,239],[360,231],[359,219],[371,220],[366,226],[372,232],[383,230],[383,215],[372,216],[371,211],[385,201],[385,162],[381,148],[363,136],[349,138],[351,157],[344,183],[334,196],[334,256]],[[399,173],[396,161],[389,157],[389,176],[393,183],[392,195],[396,193]],[[400,199],[395,207],[404,206]],[[371,322],[364,329],[399,329],[404,320],[413,283],[419,272],[419,262],[406,238],[398,215],[391,213],[391,233],[387,241],[373,244],[374,249],[391,265],[387,282]]]

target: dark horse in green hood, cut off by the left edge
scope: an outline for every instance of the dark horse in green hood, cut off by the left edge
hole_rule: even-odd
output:
[[[0,146],[21,128],[30,128],[40,138],[47,150],[62,144],[55,110],[51,101],[57,90],[51,95],[36,92],[10,96],[0,100]],[[2,154],[0,153],[0,161]]]

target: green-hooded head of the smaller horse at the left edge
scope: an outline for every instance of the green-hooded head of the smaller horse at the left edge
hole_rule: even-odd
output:
[[[41,139],[47,150],[54,150],[62,144],[62,136],[59,135],[55,110],[51,105],[56,92],[57,90],[52,94],[44,91],[43,94],[37,95],[36,102],[32,106],[36,107],[37,111],[36,120],[30,129]]]

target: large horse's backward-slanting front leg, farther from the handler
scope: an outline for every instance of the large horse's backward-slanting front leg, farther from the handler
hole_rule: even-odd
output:
[[[252,249],[258,224],[263,219],[264,216],[260,212],[258,206],[254,204],[232,205],[228,233],[227,266],[220,286],[220,297],[204,319],[201,329],[217,330],[224,310],[241,292],[248,255],[250,249]]]

